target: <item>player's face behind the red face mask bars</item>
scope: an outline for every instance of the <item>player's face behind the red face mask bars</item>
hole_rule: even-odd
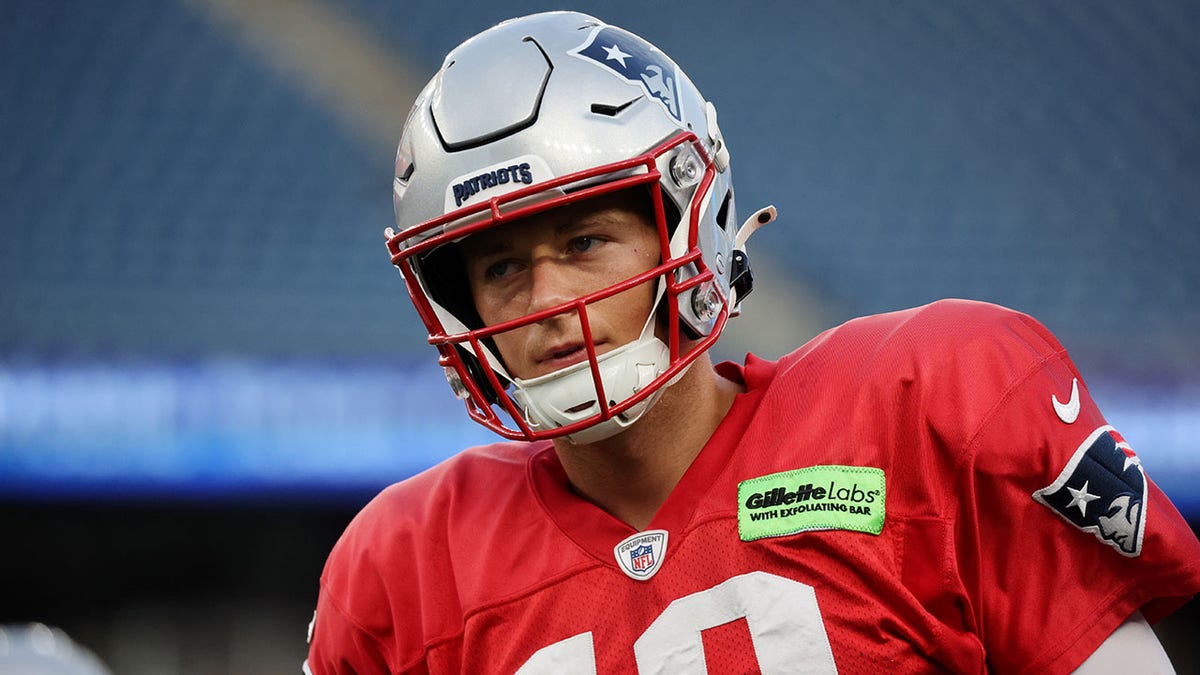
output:
[[[474,234],[461,244],[485,325],[571,301],[659,264],[658,229],[630,191],[553,209]],[[654,280],[587,306],[596,354],[641,334]],[[578,312],[494,336],[509,374],[530,380],[587,360]]]

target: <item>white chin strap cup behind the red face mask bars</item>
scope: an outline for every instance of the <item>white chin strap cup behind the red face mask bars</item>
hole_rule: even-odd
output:
[[[652,322],[653,323],[653,322]],[[629,399],[671,363],[667,346],[654,336],[653,328],[628,345],[596,358],[600,380],[610,406]],[[678,380],[678,377],[676,378]],[[668,383],[670,387],[673,383]],[[600,413],[596,386],[589,362],[582,362],[532,380],[514,380],[512,398],[524,410],[526,422],[535,430],[566,426]],[[658,401],[666,387],[610,419],[566,436],[572,443],[594,443],[623,431]]]

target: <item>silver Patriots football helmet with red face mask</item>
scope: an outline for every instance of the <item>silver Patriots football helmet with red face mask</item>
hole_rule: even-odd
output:
[[[485,228],[617,190],[650,196],[664,247],[641,336],[530,380],[492,338],[565,316],[629,280],[523,321],[484,325],[457,243]],[[636,422],[716,340],[751,287],[716,112],[662,52],[575,12],[512,19],[450,52],[418,96],[396,151],[388,247],[439,363],[473,419],[508,438],[586,443]]]

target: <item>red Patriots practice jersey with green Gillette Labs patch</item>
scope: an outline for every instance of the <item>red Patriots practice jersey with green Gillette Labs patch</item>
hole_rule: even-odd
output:
[[[644,532],[553,447],[383,491],[322,575],[346,673],[1067,673],[1200,591],[1200,543],[1032,318],[852,321],[738,396]]]

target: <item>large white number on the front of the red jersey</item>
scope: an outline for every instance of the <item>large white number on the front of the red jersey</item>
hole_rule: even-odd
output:
[[[836,673],[821,608],[812,586],[751,572],[672,602],[634,643],[641,675],[704,675],[701,631],[745,619],[764,675]],[[518,675],[594,674],[592,633],[580,633],[538,650]]]

